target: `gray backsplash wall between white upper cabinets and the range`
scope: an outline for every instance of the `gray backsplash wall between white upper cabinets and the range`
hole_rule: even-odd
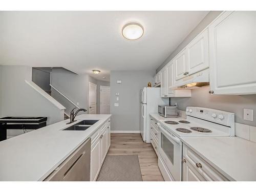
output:
[[[209,86],[192,90],[190,98],[172,98],[171,103],[177,102],[178,109],[185,111],[186,106],[201,106],[235,113],[238,123],[256,126],[256,95],[210,95]],[[243,109],[252,109],[253,122],[243,120]]]

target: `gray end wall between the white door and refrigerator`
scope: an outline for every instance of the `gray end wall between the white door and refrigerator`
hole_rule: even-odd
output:
[[[140,90],[152,82],[155,71],[111,71],[110,73],[110,113],[113,131],[139,131]],[[122,80],[117,84],[116,80]],[[115,93],[119,93],[116,101]],[[119,103],[119,106],[114,106]]]

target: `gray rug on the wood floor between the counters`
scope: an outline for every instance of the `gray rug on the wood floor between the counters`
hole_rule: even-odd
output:
[[[138,155],[108,155],[97,181],[142,181]]]

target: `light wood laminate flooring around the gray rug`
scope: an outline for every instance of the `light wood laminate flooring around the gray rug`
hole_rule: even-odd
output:
[[[164,181],[151,143],[144,143],[140,134],[111,134],[108,155],[138,155],[143,181]]]

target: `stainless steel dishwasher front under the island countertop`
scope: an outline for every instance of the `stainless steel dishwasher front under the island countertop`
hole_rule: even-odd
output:
[[[44,181],[90,181],[91,138],[84,141]]]

